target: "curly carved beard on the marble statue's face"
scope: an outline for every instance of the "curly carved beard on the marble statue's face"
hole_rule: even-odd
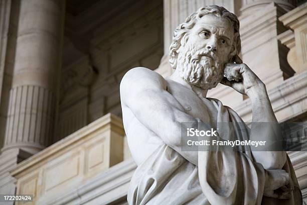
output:
[[[177,59],[179,74],[186,82],[203,89],[211,89],[223,78],[223,64],[213,52],[196,51],[194,46],[186,45]]]

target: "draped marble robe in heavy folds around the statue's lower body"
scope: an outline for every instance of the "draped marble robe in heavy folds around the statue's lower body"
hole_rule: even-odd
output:
[[[232,123],[233,130],[217,127],[219,136],[223,132],[231,140],[249,138],[249,128],[229,107],[213,98],[209,99],[217,109],[217,122]],[[246,129],[236,129],[237,123]],[[219,123],[217,124],[219,126]],[[221,125],[221,124],[220,124]],[[180,136],[179,136],[180,137]],[[128,190],[127,200],[134,204],[302,204],[301,192],[292,164],[287,157],[283,169],[294,184],[289,199],[263,196],[265,170],[254,161],[249,147],[241,151],[224,150],[198,152],[198,166],[185,159],[166,144],[161,145],[135,170]]]

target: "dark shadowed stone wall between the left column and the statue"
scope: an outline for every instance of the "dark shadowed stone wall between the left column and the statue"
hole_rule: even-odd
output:
[[[80,52],[71,38],[66,39],[55,141],[106,113],[121,116],[122,76],[136,66],[159,66],[163,56],[163,3],[137,1],[130,7],[90,31],[88,53]]]

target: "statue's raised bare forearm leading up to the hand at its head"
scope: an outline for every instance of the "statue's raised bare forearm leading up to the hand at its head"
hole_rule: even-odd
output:
[[[281,169],[286,161],[282,147],[282,135],[265,87],[254,89],[249,94],[252,102],[252,127],[250,140],[266,141],[265,151],[254,151],[255,160],[265,169]]]

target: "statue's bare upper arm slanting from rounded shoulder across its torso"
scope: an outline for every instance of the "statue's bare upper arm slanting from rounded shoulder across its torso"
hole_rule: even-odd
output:
[[[167,91],[167,81],[146,68],[133,68],[120,83],[123,109],[129,108],[135,118],[167,145],[197,164],[197,152],[181,152],[181,123],[197,122],[185,113],[177,99]]]

